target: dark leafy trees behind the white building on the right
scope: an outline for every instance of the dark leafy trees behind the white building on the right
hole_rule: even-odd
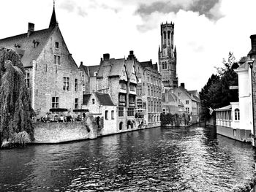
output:
[[[217,68],[217,74],[212,74],[208,82],[200,91],[201,117],[211,118],[209,108],[225,107],[230,102],[238,101],[238,90],[230,90],[230,86],[238,85],[238,75],[234,69],[238,68],[233,53],[228,54],[227,61],[222,61],[224,67]]]

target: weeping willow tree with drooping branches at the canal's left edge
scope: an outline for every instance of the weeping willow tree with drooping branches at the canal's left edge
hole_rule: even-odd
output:
[[[0,47],[0,146],[34,140],[25,69],[14,50]]]

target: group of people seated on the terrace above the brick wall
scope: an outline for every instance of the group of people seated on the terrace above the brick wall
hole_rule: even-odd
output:
[[[83,115],[83,119],[86,117],[86,115],[84,114]],[[39,119],[41,122],[58,122],[58,123],[61,123],[61,122],[74,122],[74,121],[81,121],[81,117],[80,115],[78,115],[76,118],[72,118],[71,115],[45,115],[45,117],[41,117]]]

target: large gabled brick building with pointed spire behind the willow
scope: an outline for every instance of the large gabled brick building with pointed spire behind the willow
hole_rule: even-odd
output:
[[[29,23],[27,33],[0,39],[0,46],[12,48],[20,55],[37,118],[51,108],[70,112],[80,108],[86,74],[67,49],[54,7],[48,28],[35,31],[34,24]]]

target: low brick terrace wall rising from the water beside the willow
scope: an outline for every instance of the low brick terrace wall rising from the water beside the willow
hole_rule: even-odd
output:
[[[97,138],[94,128],[86,128],[82,122],[34,123],[34,143],[59,143]]]

